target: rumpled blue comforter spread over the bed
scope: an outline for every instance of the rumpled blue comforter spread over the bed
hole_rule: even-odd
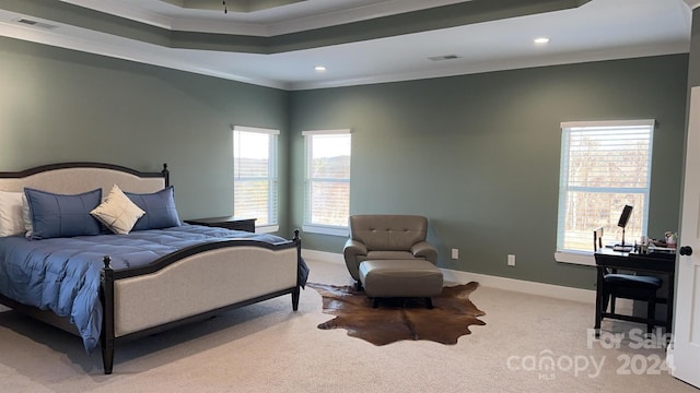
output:
[[[91,353],[102,330],[98,294],[104,255],[110,255],[112,267],[117,271],[145,265],[188,246],[232,238],[269,243],[288,241],[273,235],[198,225],[44,240],[4,237],[0,238],[0,294],[24,305],[52,310],[60,317],[70,315]],[[306,273],[302,261],[302,285]]]

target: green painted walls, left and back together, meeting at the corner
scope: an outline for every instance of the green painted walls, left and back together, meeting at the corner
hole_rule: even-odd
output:
[[[656,119],[658,236],[678,227],[687,80],[678,55],[284,92],[0,38],[0,170],[168,163],[183,218],[228,215],[231,124],[276,128],[287,236],[302,225],[301,132],[351,128],[352,213],[428,216],[442,267],[593,288],[593,269],[553,261],[559,124]],[[340,253],[345,238],[303,241]]]

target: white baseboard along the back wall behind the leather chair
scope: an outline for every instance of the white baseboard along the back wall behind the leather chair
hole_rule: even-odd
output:
[[[326,262],[345,263],[342,254],[316,250],[302,250],[306,259]],[[485,287],[518,291],[530,295],[547,296],[558,299],[581,301],[595,305],[595,290],[571,288],[561,285],[535,283],[524,279],[499,277],[486,274],[441,269],[444,279],[454,283],[478,282]]]

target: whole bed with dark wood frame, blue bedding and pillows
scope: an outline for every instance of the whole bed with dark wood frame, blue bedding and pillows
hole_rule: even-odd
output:
[[[0,172],[0,302],[100,347],[106,374],[121,342],[283,295],[296,311],[307,274],[298,230],[183,224],[166,165]]]

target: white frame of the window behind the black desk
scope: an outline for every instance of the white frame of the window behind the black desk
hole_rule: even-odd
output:
[[[641,215],[641,224],[642,224],[642,234],[646,234],[646,227],[649,222],[649,200],[650,200],[650,189],[651,189],[651,171],[652,171],[652,151],[653,151],[653,141],[654,141],[654,126],[655,120],[653,119],[644,119],[644,120],[612,120],[612,121],[570,121],[562,122],[562,141],[561,141],[561,168],[560,168],[560,184],[559,184],[559,209],[558,209],[558,218],[557,218],[557,251],[555,253],[555,260],[557,262],[565,262],[565,263],[574,263],[574,264],[584,264],[595,266],[595,259],[593,257],[592,250],[572,250],[565,249],[563,247],[563,238],[564,238],[564,225],[565,225],[565,216],[567,216],[567,192],[570,190],[568,186],[568,176],[569,176],[569,155],[570,155],[570,133],[572,130],[581,131],[581,128],[620,128],[620,127],[649,127],[650,135],[649,135],[649,160],[648,160],[648,170],[646,170],[646,187],[645,188],[586,188],[579,187],[576,191],[595,191],[595,192],[611,192],[611,193],[639,193],[642,195],[644,203],[643,209],[639,209],[639,206],[634,206],[634,213]],[[585,132],[585,131],[584,131]],[[620,209],[621,213],[621,209]],[[591,248],[593,248],[593,230],[595,228],[591,228]],[[608,241],[614,241],[616,239],[608,239]],[[619,239],[618,239],[619,240]],[[629,237],[626,239],[630,242],[633,242]]]

